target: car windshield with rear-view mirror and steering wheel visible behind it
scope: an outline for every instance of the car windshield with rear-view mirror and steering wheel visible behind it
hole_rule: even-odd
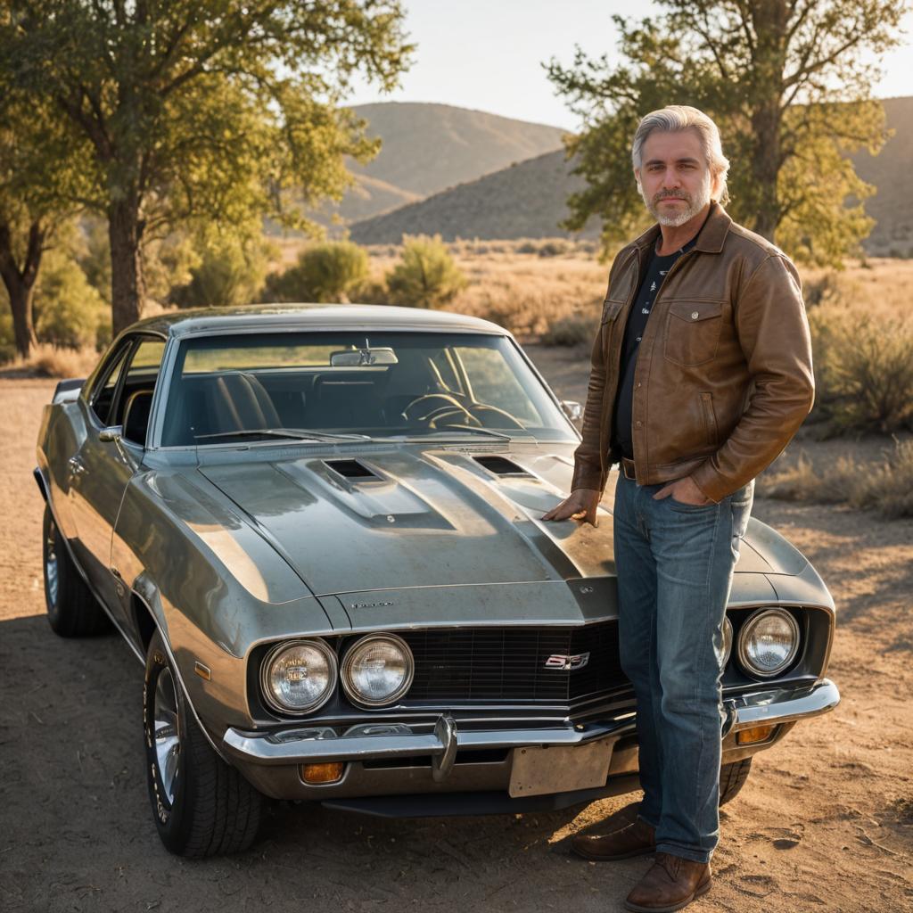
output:
[[[162,444],[457,434],[572,438],[505,337],[334,331],[183,341]]]

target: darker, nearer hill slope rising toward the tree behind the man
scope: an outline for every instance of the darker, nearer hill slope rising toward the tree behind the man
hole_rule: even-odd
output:
[[[558,223],[567,215],[568,194],[582,180],[568,173],[564,152],[547,152],[527,162],[434,194],[386,215],[352,226],[361,244],[395,244],[404,234],[517,238],[569,235]],[[594,237],[593,222],[582,233]]]

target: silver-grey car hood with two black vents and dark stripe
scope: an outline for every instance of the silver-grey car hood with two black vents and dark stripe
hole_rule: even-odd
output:
[[[570,486],[568,454],[444,446],[286,453],[295,456],[201,463],[198,471],[318,596],[614,578],[604,507],[614,481],[596,528],[541,521]],[[771,563],[745,543],[737,570],[770,572]]]

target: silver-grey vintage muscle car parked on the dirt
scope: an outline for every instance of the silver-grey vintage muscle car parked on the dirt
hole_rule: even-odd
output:
[[[578,413],[492,323],[361,305],[142,320],[58,384],[47,614],[113,624],[145,664],[169,850],[250,845],[264,797],[417,816],[637,788],[616,476],[597,527],[541,521]],[[833,634],[818,574],[752,519],[719,631],[721,802],[834,708]]]

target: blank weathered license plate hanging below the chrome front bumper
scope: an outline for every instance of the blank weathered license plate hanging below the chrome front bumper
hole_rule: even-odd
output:
[[[604,786],[609,775],[614,740],[586,745],[517,748],[510,768],[509,795],[546,795]]]

